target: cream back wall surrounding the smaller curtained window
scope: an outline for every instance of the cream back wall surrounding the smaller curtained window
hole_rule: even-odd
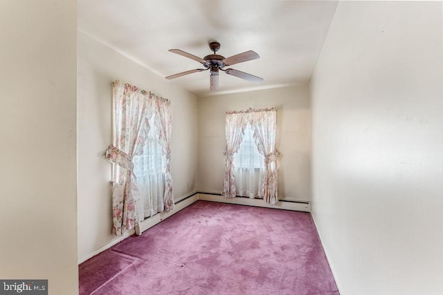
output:
[[[309,86],[199,97],[199,191],[223,190],[226,111],[277,108],[279,198],[311,200]]]

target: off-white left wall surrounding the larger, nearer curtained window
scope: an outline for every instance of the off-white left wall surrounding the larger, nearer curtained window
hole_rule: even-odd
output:
[[[172,102],[171,173],[174,198],[197,189],[197,97],[79,32],[78,52],[78,258],[109,245],[111,82],[120,79]]]

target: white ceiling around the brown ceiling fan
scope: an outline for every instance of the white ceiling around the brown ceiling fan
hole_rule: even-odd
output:
[[[253,84],[220,73],[219,94],[307,84],[334,17],[337,1],[263,0],[79,0],[81,32],[166,77],[201,68],[170,53],[177,48],[198,57],[208,43],[230,57],[254,50],[260,59],[232,68],[262,77]],[[111,61],[110,61],[111,62]],[[212,95],[209,71],[172,79],[197,96]]]

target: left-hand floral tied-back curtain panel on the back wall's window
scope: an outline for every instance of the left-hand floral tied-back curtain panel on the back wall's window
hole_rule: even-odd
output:
[[[235,193],[235,166],[233,156],[237,153],[244,136],[244,129],[248,121],[241,113],[226,113],[226,155],[223,195],[226,198],[234,198]]]

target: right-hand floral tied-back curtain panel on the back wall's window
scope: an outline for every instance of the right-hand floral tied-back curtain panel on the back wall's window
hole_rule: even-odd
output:
[[[263,199],[271,204],[278,202],[277,159],[280,152],[275,146],[277,131],[277,111],[275,108],[251,113],[253,137],[258,151],[264,156]]]

